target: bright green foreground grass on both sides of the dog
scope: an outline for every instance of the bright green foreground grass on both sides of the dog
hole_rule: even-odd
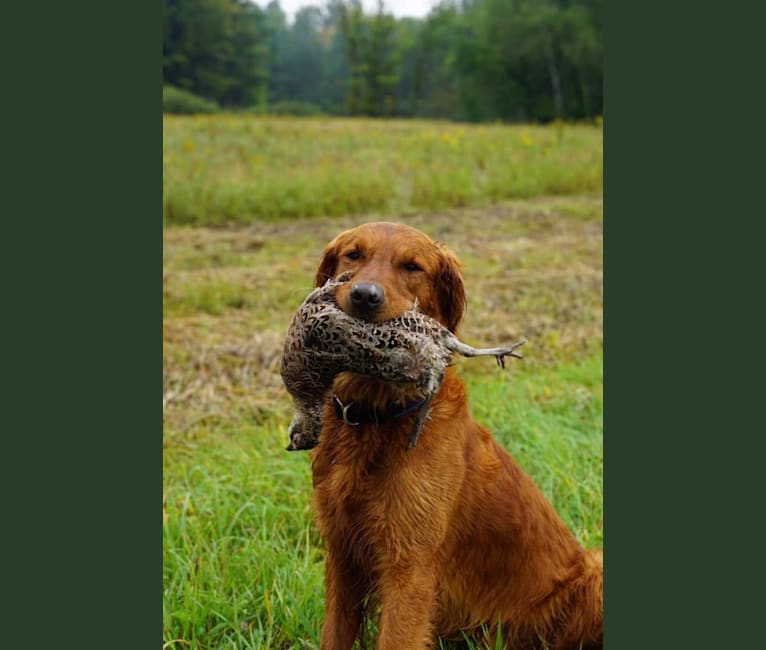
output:
[[[475,417],[589,546],[602,544],[600,368],[594,355],[468,382]],[[287,417],[232,420],[166,449],[166,641],[316,648],[324,588],[308,455],[283,450]]]

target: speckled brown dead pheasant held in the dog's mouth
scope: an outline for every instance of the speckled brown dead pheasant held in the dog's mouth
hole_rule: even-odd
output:
[[[288,451],[316,446],[324,403],[340,372],[417,386],[424,401],[407,444],[413,449],[453,352],[465,357],[494,356],[502,368],[506,356],[522,358],[515,350],[526,342],[524,339],[509,347],[471,347],[419,311],[417,302],[398,318],[383,323],[353,318],[335,303],[335,288],[350,276],[343,274],[314,289],[287,330],[280,371],[294,406]]]

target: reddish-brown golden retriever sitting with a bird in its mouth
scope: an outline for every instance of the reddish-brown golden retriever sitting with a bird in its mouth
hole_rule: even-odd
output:
[[[417,300],[453,332],[466,307],[460,263],[397,223],[368,223],[324,251],[319,286],[345,271],[341,309],[371,322]],[[477,424],[448,368],[420,441],[419,396],[338,375],[312,452],[326,548],[323,650],[348,650],[379,612],[380,650],[475,635],[514,649],[601,648],[603,562],[586,550],[518,463]],[[494,647],[494,645],[492,646]]]

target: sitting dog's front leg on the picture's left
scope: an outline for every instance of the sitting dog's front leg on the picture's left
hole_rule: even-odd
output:
[[[364,597],[358,573],[337,562],[328,550],[321,650],[351,650],[362,623]]]

